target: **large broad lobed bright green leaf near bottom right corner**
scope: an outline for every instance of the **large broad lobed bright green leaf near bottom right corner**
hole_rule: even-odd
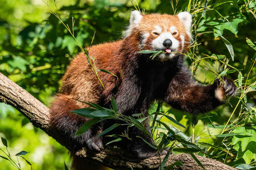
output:
[[[244,159],[246,164],[250,164],[252,159],[256,159],[256,127],[240,126],[233,130],[235,133],[250,133],[253,136],[236,135],[233,137],[231,145],[238,152],[237,159]]]

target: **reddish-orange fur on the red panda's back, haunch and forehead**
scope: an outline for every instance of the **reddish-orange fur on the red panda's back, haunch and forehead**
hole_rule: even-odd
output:
[[[168,20],[168,22],[166,22],[166,20]],[[78,54],[72,60],[62,78],[63,85],[60,88],[61,94],[58,94],[58,96],[55,97],[55,101],[52,102],[50,111],[52,127],[60,128],[56,125],[59,119],[68,119],[73,122],[78,122],[78,124],[81,125],[89,120],[69,113],[69,111],[72,110],[88,107],[86,104],[74,99],[97,104],[108,102],[115,87],[119,86],[119,80],[123,78],[122,72],[127,69],[127,62],[130,62],[129,58],[137,54],[138,51],[141,51],[138,46],[139,31],[137,29],[140,29],[142,32],[149,32],[150,36],[148,37],[148,41],[150,42],[155,38],[154,35],[151,34],[151,31],[154,30],[153,26],[155,25],[161,26],[164,30],[175,26],[179,34],[184,35],[185,41],[189,41],[189,35],[184,31],[184,26],[177,16],[168,14],[143,15],[139,28],[135,28],[130,36],[123,40],[94,45],[90,48],[89,54],[95,59],[96,68],[108,70],[119,77],[119,79],[117,79],[111,74],[99,71],[99,78],[105,88],[102,87],[99,80],[94,75],[92,67],[87,62],[87,57],[83,53]],[[125,48],[122,46],[124,44],[126,45]],[[187,46],[188,45],[185,43],[183,50]],[[150,48],[146,46],[145,49]],[[122,84],[120,86],[122,86]],[[102,101],[102,99],[104,101]],[[144,110],[141,111],[145,112]],[[99,169],[96,169],[96,167],[93,166],[92,164],[88,164],[87,161],[73,156],[73,168],[75,170],[100,170],[100,168],[103,168],[99,167]],[[90,169],[88,169],[89,167]]]

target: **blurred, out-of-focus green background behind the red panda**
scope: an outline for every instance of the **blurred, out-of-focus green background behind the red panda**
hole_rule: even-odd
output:
[[[145,9],[145,13],[174,14],[178,11],[190,11],[193,14],[192,33],[196,35],[194,37],[196,48],[195,46],[191,48],[187,63],[191,66],[198,82],[207,84],[215,79],[215,73],[206,65],[211,65],[218,74],[225,69],[224,66],[221,67],[220,62],[212,59],[202,59],[204,64],[195,62],[196,57],[203,58],[204,54],[224,55],[225,62],[230,59],[228,63],[247,77],[255,59],[255,51],[246,42],[246,37],[253,42],[256,41],[255,1],[209,1],[209,10],[203,15],[205,2],[205,0],[178,2],[137,0],[140,8]],[[56,0],[56,7],[53,0],[48,0],[48,3],[53,9],[58,9],[61,20],[70,28],[72,20],[75,20],[74,34],[83,47],[90,45],[95,31],[93,44],[118,40],[125,26],[128,25],[131,10],[134,9],[130,0]],[[49,106],[52,96],[58,92],[60,79],[67,65],[80,49],[67,29],[51,14],[49,7],[42,0],[0,0],[0,4],[0,72]],[[233,45],[234,61],[220,35]],[[227,76],[241,87],[238,85],[238,71],[230,69],[229,72],[222,74],[228,74]],[[256,68],[253,67],[247,83],[255,82],[255,77]],[[242,81],[245,82],[245,79]],[[209,131],[207,125],[212,122],[225,125],[233,111],[233,106],[238,101],[237,98],[231,99],[230,103],[208,113],[209,117],[200,115],[195,127],[195,136],[201,134],[199,139],[201,142],[211,143],[213,141],[211,136],[221,133],[221,129]],[[255,91],[248,93],[244,102],[248,108],[255,107]],[[244,108],[240,105],[231,121],[244,113]],[[165,105],[163,110],[168,111],[169,106]],[[179,127],[180,130],[191,136],[191,115],[172,109],[168,112],[187,127],[186,129]],[[168,119],[162,121],[175,126]],[[8,140],[12,155],[21,150],[30,151],[25,157],[32,163],[34,170],[64,169],[64,161],[70,167],[71,161],[64,147],[42,130],[33,127],[18,111],[4,103],[0,103],[0,136]],[[4,148],[2,144],[0,148]],[[239,158],[236,161],[244,162]],[[26,162],[22,161],[21,165],[23,169],[30,168]],[[0,169],[15,168],[8,161],[0,159]]]

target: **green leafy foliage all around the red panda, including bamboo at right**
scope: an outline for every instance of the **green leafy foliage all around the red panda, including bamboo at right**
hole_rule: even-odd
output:
[[[66,66],[81,50],[76,40],[82,47],[90,46],[92,40],[93,44],[117,40],[124,30],[124,24],[128,23],[131,9],[135,8],[133,4],[141,11],[144,8],[145,13],[177,14],[179,11],[189,11],[193,15],[194,41],[186,42],[190,44],[186,62],[195,79],[202,84],[210,84],[214,79],[221,79],[221,76],[226,75],[235,80],[239,91],[237,97],[232,98],[225,106],[198,117],[176,111],[166,104],[157,109],[157,103],[154,103],[149,111],[152,119],[156,118],[155,125],[152,126],[153,138],[157,142],[154,147],[166,147],[166,143],[161,143],[161,140],[167,139],[174,132],[177,136],[173,134],[171,136],[180,140],[178,143],[181,148],[193,148],[192,146],[196,145],[204,151],[197,152],[199,155],[217,159],[239,169],[255,167],[256,152],[253,149],[256,131],[256,31],[253,29],[256,21],[255,0],[138,0],[138,6],[135,1],[131,3],[131,1],[109,0],[86,2],[56,0],[57,13],[61,20],[70,26],[76,40],[61,21],[49,12],[44,3],[37,4],[35,2],[38,1],[26,0],[2,0],[2,2],[0,71],[46,105],[49,105],[51,96],[61,85],[58,80],[63,76]],[[53,0],[49,0],[49,4],[55,6]],[[90,56],[90,59],[93,59],[93,56]],[[104,68],[97,69],[111,74]],[[115,115],[112,116],[116,116],[118,111],[113,103],[112,110]],[[98,119],[100,117],[97,116],[102,116],[102,112],[103,115],[112,112],[112,110],[103,111],[100,106],[93,109],[81,109],[74,113],[82,116],[90,115],[90,118]],[[98,112],[90,114],[93,111]],[[154,112],[166,116],[152,114]],[[127,120],[132,122],[131,125],[143,130],[141,126],[143,119],[140,116],[140,113],[135,113]],[[107,118],[110,118],[109,115],[105,115],[103,119]],[[100,120],[101,118],[97,121]],[[31,126],[28,120],[4,104],[0,104],[0,123],[0,136],[6,135],[8,147],[13,147],[23,139],[42,145],[44,143],[39,139],[48,140],[40,130],[35,129],[35,133],[32,133],[31,129],[29,131],[27,127]],[[22,130],[29,131],[29,137]],[[86,129],[84,128],[81,133],[84,130]],[[124,136],[112,137],[111,142],[118,142]],[[182,139],[188,139],[192,145]],[[186,146],[182,146],[183,144]],[[59,160],[60,163],[57,159],[52,163],[53,159],[50,158],[52,155],[67,157],[64,148],[53,142],[51,145],[54,145],[51,151],[53,154],[48,153],[41,163],[34,161],[33,166],[37,167],[36,169],[46,169],[49,166],[52,166],[51,169],[63,168],[63,159]],[[29,146],[32,148],[32,144]],[[32,150],[31,152],[29,155],[33,154]],[[4,158],[0,159],[0,166],[12,168],[6,162]],[[30,167],[29,164],[27,166]]]

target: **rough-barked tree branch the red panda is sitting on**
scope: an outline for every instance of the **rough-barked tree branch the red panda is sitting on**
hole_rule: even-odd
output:
[[[72,150],[72,143],[67,142],[59,136],[59,133],[49,126],[49,108],[40,101],[35,99],[31,94],[12,82],[6,76],[0,73],[0,102],[12,105],[20,113],[26,116],[35,127],[44,130],[49,136],[52,136],[61,145],[81,156],[84,159],[111,167],[116,170],[156,170],[159,167],[159,158],[152,157],[139,160],[125,150],[107,147],[100,152],[81,148],[80,150]],[[163,159],[164,156],[162,156]],[[207,170],[235,170],[235,168],[223,164],[219,161],[197,156]],[[171,155],[166,165],[170,165],[175,161],[183,162],[184,166],[175,166],[175,170],[201,170],[202,168],[188,154]],[[131,165],[131,167],[130,167]]]

